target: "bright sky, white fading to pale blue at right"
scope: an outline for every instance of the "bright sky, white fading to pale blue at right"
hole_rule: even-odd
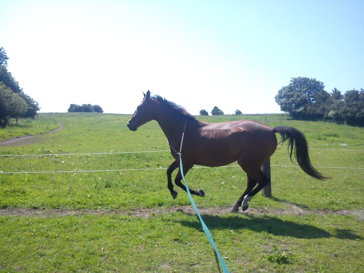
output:
[[[132,114],[150,90],[193,115],[280,113],[294,77],[364,88],[363,14],[363,0],[0,0],[0,47],[39,112]]]

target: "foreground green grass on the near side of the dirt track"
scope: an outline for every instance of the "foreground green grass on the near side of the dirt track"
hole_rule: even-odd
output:
[[[231,272],[361,272],[354,217],[203,215]],[[218,272],[194,215],[1,217],[5,272]],[[291,264],[266,257],[285,251]],[[350,257],[348,261],[348,257]]]

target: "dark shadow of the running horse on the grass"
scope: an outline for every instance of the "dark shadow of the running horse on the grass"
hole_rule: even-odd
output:
[[[192,215],[192,214],[190,214]],[[348,229],[337,229],[336,234],[330,234],[324,229],[319,227],[299,224],[292,221],[286,221],[279,219],[274,216],[263,215],[263,216],[251,216],[245,215],[246,217],[230,215],[228,217],[220,217],[219,215],[202,215],[203,221],[206,223],[209,229],[250,229],[254,232],[267,232],[275,236],[290,236],[295,238],[303,239],[317,239],[317,238],[329,238],[336,237],[339,239],[363,240],[363,237],[352,233],[352,230]],[[176,221],[176,219],[174,219]],[[201,232],[202,226],[197,221],[178,221],[183,226],[193,227]]]

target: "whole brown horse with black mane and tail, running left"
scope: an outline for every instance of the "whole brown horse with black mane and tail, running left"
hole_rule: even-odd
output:
[[[325,179],[310,162],[304,135],[293,127],[271,128],[253,120],[206,123],[195,119],[184,108],[173,102],[160,96],[151,97],[148,91],[127,126],[131,131],[136,131],[139,126],[150,120],[157,120],[161,126],[175,159],[167,169],[167,187],[173,199],[178,193],[173,189],[172,173],[179,168],[178,153],[181,153],[184,175],[195,164],[217,167],[237,161],[247,174],[247,187],[230,211],[236,212],[240,206],[243,211],[248,209],[248,201],[270,182],[262,173],[261,166],[276,151],[275,133],[281,135],[281,142],[288,140],[291,160],[294,153],[298,165],[306,174],[317,179]],[[184,135],[183,143],[181,143],[182,135]],[[174,182],[187,191],[181,180],[182,175],[179,170]],[[203,190],[190,189],[190,192],[201,197],[205,196]]]

